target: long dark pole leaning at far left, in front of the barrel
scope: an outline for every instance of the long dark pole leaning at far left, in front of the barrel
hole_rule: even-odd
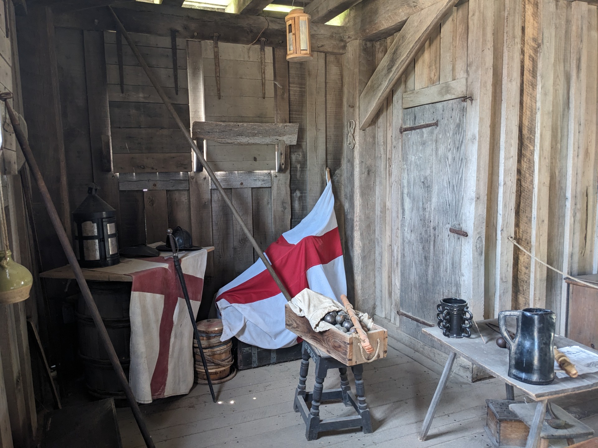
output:
[[[121,386],[124,389],[124,394],[127,396],[127,401],[129,401],[129,406],[133,411],[133,416],[135,416],[135,420],[137,421],[137,425],[139,426],[139,430],[144,437],[145,445],[148,448],[155,448],[154,441],[149,434],[148,428],[145,425],[145,421],[143,416],[141,415],[141,410],[139,409],[139,405],[137,401],[135,401],[135,395],[133,395],[133,391],[131,390],[131,386],[129,385],[129,380],[127,380],[126,375],[124,375],[123,367],[120,365],[120,361],[118,361],[118,355],[114,350],[114,345],[112,345],[112,341],[108,336],[108,332],[106,331],[106,327],[102,321],[102,316],[100,316],[100,312],[97,310],[96,302],[93,300],[91,296],[91,291],[89,290],[89,286],[87,286],[87,281],[85,277],[83,277],[83,271],[81,271],[81,267],[79,266],[79,262],[77,261],[77,257],[71,247],[71,241],[69,237],[66,236],[65,228],[62,225],[62,221],[60,221],[60,216],[56,207],[54,206],[54,202],[50,197],[50,192],[48,191],[48,187],[45,185],[44,177],[41,175],[41,171],[39,171],[39,167],[37,162],[35,161],[35,157],[33,157],[33,152],[29,146],[29,141],[23,133],[23,130],[19,123],[19,118],[17,118],[16,113],[14,113],[10,102],[8,99],[11,99],[13,94],[10,92],[0,94],[0,100],[4,101],[6,105],[6,110],[8,112],[8,116],[10,118],[11,124],[13,125],[14,133],[17,136],[17,140],[19,141],[19,145],[23,150],[23,155],[25,156],[25,160],[29,164],[31,168],[31,173],[33,174],[33,179],[37,183],[39,187],[39,192],[41,192],[42,201],[44,202],[45,208],[50,215],[50,220],[52,225],[54,226],[54,230],[56,230],[56,234],[58,235],[58,240],[60,241],[60,246],[65,251],[66,259],[68,260],[71,268],[75,274],[75,278],[77,279],[77,283],[81,289],[81,294],[83,295],[83,299],[91,312],[91,318],[93,318],[94,324],[96,324],[97,332],[100,335],[100,339],[102,339],[102,343],[106,352],[108,352],[108,357],[110,358],[110,362],[112,363],[112,367],[114,368],[114,372],[118,377],[118,381],[120,381]]]

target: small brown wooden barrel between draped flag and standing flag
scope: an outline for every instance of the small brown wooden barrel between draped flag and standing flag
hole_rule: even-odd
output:
[[[233,365],[233,354],[231,348],[233,342],[228,339],[221,341],[222,336],[222,321],[220,319],[207,319],[197,323],[197,330],[199,332],[200,342],[202,343],[203,354],[206,357],[206,364],[208,372],[212,381],[222,380],[232,376],[231,366]],[[197,383],[205,383],[208,381],[206,372],[203,369],[202,358],[200,356],[199,348],[197,347],[197,340],[193,340],[193,351],[195,355],[195,379]]]

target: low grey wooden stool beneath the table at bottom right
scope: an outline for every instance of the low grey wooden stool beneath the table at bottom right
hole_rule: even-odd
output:
[[[559,419],[563,419],[567,422],[567,428],[555,429],[548,425],[547,422],[542,423],[542,429],[540,431],[540,443],[538,448],[548,447],[548,440],[550,439],[566,439],[568,445],[575,443],[575,438],[585,438],[594,435],[594,429],[590,426],[582,424],[578,419],[570,415],[566,410],[563,410],[556,404],[551,404],[554,415]],[[517,417],[527,426],[532,425],[533,416],[536,411],[536,403],[522,403],[522,404],[509,404],[509,409],[512,410]],[[546,418],[550,418],[548,415]]]

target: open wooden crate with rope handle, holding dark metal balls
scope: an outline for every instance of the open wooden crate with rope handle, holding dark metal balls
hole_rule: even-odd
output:
[[[347,366],[362,364],[366,360],[359,348],[359,337],[355,334],[341,333],[336,330],[316,333],[309,324],[307,317],[300,317],[295,314],[288,303],[285,305],[286,329],[302,337],[304,340],[316,346],[321,351],[327,353],[335,360],[340,361]],[[386,348],[388,346],[388,332],[380,326],[374,324],[373,329],[368,333],[371,345],[376,350],[380,344],[378,354],[374,359],[386,357]]]

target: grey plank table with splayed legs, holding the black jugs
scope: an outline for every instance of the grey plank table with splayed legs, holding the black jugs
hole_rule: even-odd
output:
[[[440,401],[444,386],[446,386],[447,380],[449,379],[450,370],[453,367],[457,355],[465,358],[476,366],[480,366],[491,375],[504,381],[507,388],[507,400],[514,400],[513,388],[517,387],[528,397],[533,398],[538,402],[534,419],[530,426],[526,448],[536,448],[536,446],[538,446],[540,431],[546,413],[546,403],[550,398],[598,389],[598,373],[588,373],[586,375],[578,376],[578,378],[555,378],[552,383],[545,386],[535,386],[510,378],[508,376],[509,351],[508,349],[499,348],[499,346],[496,345],[496,339],[500,335],[490,329],[486,323],[498,324],[496,319],[478,321],[478,327],[484,340],[486,340],[485,344],[482,342],[480,333],[475,330],[475,327],[472,329],[471,337],[463,337],[462,339],[445,337],[443,336],[442,330],[438,327],[425,328],[422,330],[425,335],[428,335],[449,349],[450,355],[444,366],[443,374],[440,377],[440,382],[438,383],[438,387],[432,398],[432,403],[428,408],[428,413],[426,413],[426,418],[423,421],[422,430],[419,433],[419,440],[426,440],[426,435],[428,435],[428,431],[432,425],[432,419],[434,419],[438,401]],[[574,340],[562,336],[554,336],[554,344],[558,348],[570,345],[581,345],[579,342],[575,342]],[[598,354],[598,351],[593,350],[590,347],[583,346],[583,348]]]

